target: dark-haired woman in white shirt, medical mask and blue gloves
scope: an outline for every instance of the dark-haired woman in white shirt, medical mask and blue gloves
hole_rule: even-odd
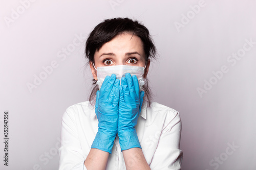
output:
[[[63,114],[59,169],[180,169],[179,113],[152,103],[147,86],[155,52],[138,21],[106,19],[94,28],[86,57],[95,87]]]

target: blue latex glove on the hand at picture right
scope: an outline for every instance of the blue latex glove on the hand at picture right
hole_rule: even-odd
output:
[[[119,86],[118,136],[121,151],[141,148],[135,126],[141,111],[144,91],[140,92],[137,77],[127,73]]]

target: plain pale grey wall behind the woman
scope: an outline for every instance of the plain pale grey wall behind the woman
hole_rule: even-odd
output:
[[[10,140],[8,167],[0,142],[0,168],[57,169],[62,114],[86,101],[91,87],[84,40],[103,19],[131,17],[150,30],[158,49],[148,75],[154,101],[180,112],[182,169],[255,169],[255,6],[227,0],[1,0],[0,136],[2,141],[8,110]],[[44,80],[35,80],[39,76]]]

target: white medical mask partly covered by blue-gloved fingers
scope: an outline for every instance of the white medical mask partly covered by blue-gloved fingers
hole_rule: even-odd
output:
[[[99,86],[99,89],[100,89],[105,77],[111,76],[112,74],[115,74],[116,78],[119,79],[121,83],[121,78],[125,77],[126,73],[130,73],[131,76],[135,75],[137,77],[139,86],[140,86],[140,91],[141,91],[142,86],[145,84],[143,80],[145,68],[146,66],[139,67],[139,66],[132,66],[132,65],[113,65],[113,66],[98,67],[97,69],[95,68],[97,70],[97,79],[98,79],[97,85]]]

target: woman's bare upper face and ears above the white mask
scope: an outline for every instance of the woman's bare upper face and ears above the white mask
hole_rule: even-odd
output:
[[[132,65],[145,66],[145,53],[143,43],[138,36],[130,33],[122,33],[117,35],[111,41],[102,45],[99,51],[94,54],[95,68],[112,65]],[[146,78],[150,60],[148,60],[144,78]],[[97,72],[94,69],[92,62],[90,67],[95,80],[97,80]]]

